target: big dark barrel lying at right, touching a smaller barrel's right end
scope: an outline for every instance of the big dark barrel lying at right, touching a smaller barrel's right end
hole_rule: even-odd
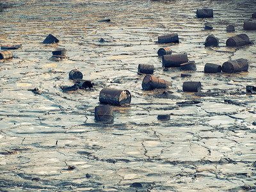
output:
[[[226,61],[222,65],[222,71],[225,73],[234,73],[240,71],[248,71],[248,61],[242,58],[233,61]]]

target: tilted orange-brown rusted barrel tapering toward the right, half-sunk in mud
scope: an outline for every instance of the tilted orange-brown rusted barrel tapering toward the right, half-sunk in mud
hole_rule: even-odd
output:
[[[143,90],[154,90],[160,88],[167,88],[169,85],[172,85],[172,83],[170,81],[165,81],[152,75],[147,75],[144,77],[141,85]]]

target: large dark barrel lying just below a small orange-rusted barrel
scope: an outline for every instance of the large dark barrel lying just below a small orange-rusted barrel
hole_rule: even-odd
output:
[[[188,55],[183,54],[166,54],[162,58],[163,67],[180,67],[180,64],[188,62]]]

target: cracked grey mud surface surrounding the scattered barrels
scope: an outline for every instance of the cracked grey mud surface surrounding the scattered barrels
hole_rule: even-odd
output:
[[[255,85],[256,45],[225,46],[241,33],[256,40],[243,30],[254,0],[1,3],[0,44],[22,49],[0,63],[0,191],[256,190],[256,98],[246,93]],[[197,19],[197,8],[212,8],[214,18]],[[204,30],[207,23],[213,30]],[[229,24],[235,32],[227,33]],[[42,44],[49,33],[60,42]],[[180,44],[157,44],[169,33]],[[220,47],[205,48],[208,35]],[[196,72],[163,70],[157,51],[167,46],[187,52]],[[56,48],[67,49],[68,59],[51,60]],[[207,62],[238,58],[248,60],[248,72],[203,72]],[[140,63],[154,64],[154,76],[172,87],[143,91]],[[62,92],[74,84],[73,68],[92,90]],[[184,81],[200,81],[202,91],[182,92]],[[104,87],[132,94],[131,106],[115,107],[113,124],[94,121]],[[158,121],[159,114],[171,119]]]

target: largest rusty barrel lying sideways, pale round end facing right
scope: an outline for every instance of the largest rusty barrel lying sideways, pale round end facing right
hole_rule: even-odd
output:
[[[127,90],[103,88],[100,91],[99,100],[101,103],[113,104],[115,106],[129,106],[131,103],[131,93]]]

